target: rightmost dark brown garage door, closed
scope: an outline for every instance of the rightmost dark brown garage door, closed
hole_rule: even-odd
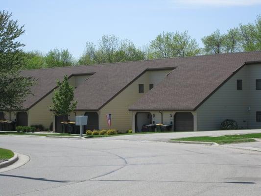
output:
[[[175,131],[193,131],[193,115],[190,112],[177,112],[174,126]]]

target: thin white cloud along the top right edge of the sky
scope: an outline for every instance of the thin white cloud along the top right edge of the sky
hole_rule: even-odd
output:
[[[186,5],[247,6],[261,4],[261,0],[174,0]]]

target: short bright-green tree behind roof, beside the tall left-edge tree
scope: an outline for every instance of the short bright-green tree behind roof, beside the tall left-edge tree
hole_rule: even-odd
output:
[[[45,57],[40,51],[24,52],[24,66],[23,70],[45,68]]]

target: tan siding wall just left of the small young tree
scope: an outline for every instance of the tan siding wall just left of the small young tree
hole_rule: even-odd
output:
[[[45,128],[49,128],[53,120],[52,112],[49,111],[49,107],[52,105],[52,97],[53,92],[28,110],[28,126],[43,124]]]

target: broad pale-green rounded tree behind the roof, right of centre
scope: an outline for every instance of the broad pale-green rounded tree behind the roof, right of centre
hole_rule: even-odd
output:
[[[150,49],[155,58],[195,56],[201,51],[188,31],[163,32],[150,42]]]

